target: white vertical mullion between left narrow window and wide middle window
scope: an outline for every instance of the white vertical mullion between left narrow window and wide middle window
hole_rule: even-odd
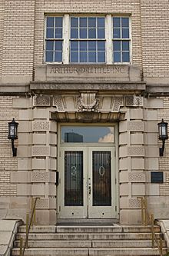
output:
[[[63,24],[63,63],[69,63],[69,38],[70,38],[70,25],[69,25],[69,15],[64,16]]]

